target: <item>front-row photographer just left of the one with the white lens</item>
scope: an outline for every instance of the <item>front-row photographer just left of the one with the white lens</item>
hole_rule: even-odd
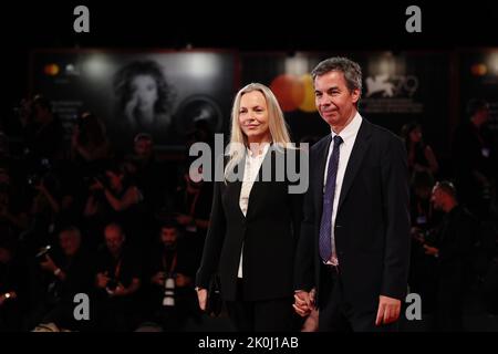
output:
[[[95,285],[98,291],[98,322],[103,331],[131,331],[136,321],[135,293],[141,288],[141,267],[125,246],[118,223],[104,230],[105,248],[97,254]]]

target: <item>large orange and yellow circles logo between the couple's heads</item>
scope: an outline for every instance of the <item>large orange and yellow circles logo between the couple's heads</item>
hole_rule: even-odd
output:
[[[310,74],[301,76],[283,74],[273,79],[270,84],[283,112],[317,112],[314,105],[313,80]]]

